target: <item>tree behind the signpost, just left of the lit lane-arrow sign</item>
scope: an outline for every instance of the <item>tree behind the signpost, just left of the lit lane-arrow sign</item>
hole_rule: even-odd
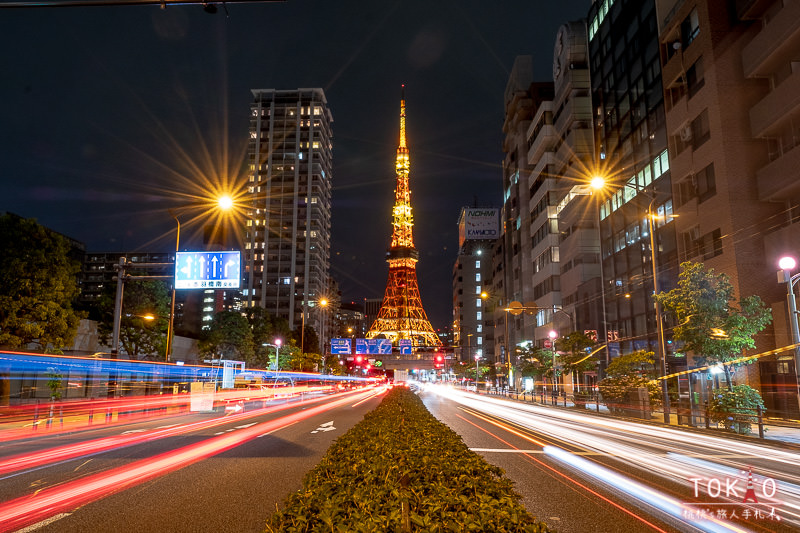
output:
[[[102,319],[98,324],[100,339],[110,343],[114,331],[116,287],[108,286],[100,297]],[[125,283],[119,320],[119,342],[122,350],[134,358],[165,356],[166,332],[169,323],[170,295],[167,285],[157,280],[129,279]]]

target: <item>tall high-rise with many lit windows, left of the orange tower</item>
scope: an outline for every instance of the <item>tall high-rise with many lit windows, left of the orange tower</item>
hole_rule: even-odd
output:
[[[322,89],[253,90],[244,300],[320,330],[328,293],[331,123]]]

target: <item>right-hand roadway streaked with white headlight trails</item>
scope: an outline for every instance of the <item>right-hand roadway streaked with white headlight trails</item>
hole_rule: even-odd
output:
[[[446,387],[420,396],[559,532],[800,530],[797,449]],[[758,503],[744,502],[748,472]]]

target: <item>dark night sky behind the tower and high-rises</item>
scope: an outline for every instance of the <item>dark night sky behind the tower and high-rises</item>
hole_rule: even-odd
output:
[[[2,2],[0,1],[0,5]],[[251,89],[322,87],[333,114],[331,274],[380,298],[406,85],[417,275],[452,320],[462,206],[500,206],[503,91],[517,55],[552,80],[589,0],[300,1],[0,9],[0,211],[88,251],[201,243],[198,198],[246,186]],[[233,222],[229,222],[233,224]]]

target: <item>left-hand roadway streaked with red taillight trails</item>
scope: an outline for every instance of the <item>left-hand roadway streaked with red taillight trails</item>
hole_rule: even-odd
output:
[[[0,531],[261,532],[331,443],[378,405],[375,392],[7,443],[0,465],[25,455],[42,464],[0,475]],[[93,451],[107,439],[128,440]],[[85,453],[60,460],[75,445]]]

